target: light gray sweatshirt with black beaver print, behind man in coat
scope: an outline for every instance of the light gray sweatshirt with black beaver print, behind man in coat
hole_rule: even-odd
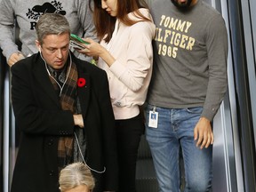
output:
[[[59,12],[68,19],[71,32],[77,36],[96,39],[92,12],[88,0],[0,0],[0,47],[6,60],[19,52],[15,44],[15,33],[20,32],[21,52],[28,56],[36,49],[36,22],[44,12]],[[13,31],[17,20],[20,31]],[[76,52],[76,56],[78,53]],[[85,59],[84,55],[79,55]]]

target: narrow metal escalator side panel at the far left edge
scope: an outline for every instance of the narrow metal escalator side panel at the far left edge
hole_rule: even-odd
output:
[[[16,145],[15,145],[15,127],[14,127],[14,116],[12,112],[11,102],[11,82],[10,82],[10,68],[6,64],[5,58],[0,51],[0,86],[1,86],[1,122],[0,122],[0,146],[1,146],[1,188],[0,191],[9,192],[10,185],[12,182],[12,172],[16,160]]]

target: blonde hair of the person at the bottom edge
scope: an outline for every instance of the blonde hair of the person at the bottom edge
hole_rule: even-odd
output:
[[[92,172],[83,163],[68,164],[60,171],[60,190],[66,191],[79,185],[86,185],[90,190],[95,186]]]

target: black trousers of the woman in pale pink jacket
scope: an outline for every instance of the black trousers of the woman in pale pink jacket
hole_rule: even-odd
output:
[[[135,192],[135,174],[140,136],[144,132],[142,117],[116,120],[119,164],[119,192]]]

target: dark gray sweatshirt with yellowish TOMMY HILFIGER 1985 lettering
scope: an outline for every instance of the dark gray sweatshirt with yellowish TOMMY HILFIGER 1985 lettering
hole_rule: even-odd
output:
[[[156,24],[148,103],[162,108],[204,107],[212,121],[227,90],[228,36],[220,13],[198,0],[180,12],[170,0],[150,1]]]

